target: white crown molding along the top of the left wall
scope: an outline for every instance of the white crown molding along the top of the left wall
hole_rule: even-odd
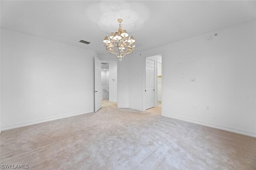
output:
[[[74,41],[70,41],[70,40],[67,40],[67,39],[60,38],[60,37],[55,37],[55,36],[52,36],[52,35],[49,35],[49,34],[46,34],[46,33],[42,33],[42,32],[39,32],[39,31],[33,31],[33,30],[30,30],[30,29],[26,29],[26,28],[22,28],[22,27],[16,27],[16,26],[2,27],[2,28],[10,29],[10,30],[13,30],[13,31],[18,31],[18,32],[34,35],[34,36],[37,36],[37,37],[42,37],[42,38],[54,40],[54,41],[58,41],[58,42],[61,42],[61,43],[66,43],[66,44],[69,44],[69,45],[74,45],[74,46],[81,47],[81,48],[84,48],[84,49],[93,50],[93,51],[96,52],[96,54],[100,53],[100,50],[98,48],[95,48],[95,47],[92,47],[92,46],[85,46],[84,44],[81,44],[79,42],[74,42]]]

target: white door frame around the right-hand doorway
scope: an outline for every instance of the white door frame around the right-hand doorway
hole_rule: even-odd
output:
[[[151,57],[154,55],[161,55],[162,56],[162,111],[161,114],[164,113],[164,51],[157,51],[153,53],[148,53],[143,55],[143,111],[146,111],[146,94],[145,94],[145,87],[146,87],[146,57]],[[155,90],[155,96],[157,95],[157,90]]]

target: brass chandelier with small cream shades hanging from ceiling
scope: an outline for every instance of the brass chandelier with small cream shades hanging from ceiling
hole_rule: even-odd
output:
[[[130,36],[128,38],[129,35],[127,31],[122,29],[121,22],[123,20],[118,19],[117,21],[119,22],[118,32],[110,33],[110,36],[105,37],[103,42],[106,43],[106,50],[109,53],[115,54],[118,60],[122,61],[126,54],[130,54],[133,52],[133,49],[135,47],[135,39],[133,38],[133,36]]]

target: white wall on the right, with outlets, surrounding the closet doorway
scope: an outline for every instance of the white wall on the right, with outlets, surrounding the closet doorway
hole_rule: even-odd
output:
[[[129,55],[129,106],[142,110],[144,57],[163,51],[162,115],[256,137],[255,49],[252,21]]]

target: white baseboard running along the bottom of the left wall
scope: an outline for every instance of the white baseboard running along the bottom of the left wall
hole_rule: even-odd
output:
[[[94,110],[81,111],[81,112],[70,113],[70,114],[61,115],[61,116],[54,116],[54,117],[41,119],[41,120],[36,120],[36,121],[29,121],[29,122],[25,122],[25,123],[18,123],[18,124],[14,124],[14,125],[2,126],[1,130],[6,131],[6,130],[9,130],[9,129],[15,129],[15,128],[18,128],[18,127],[34,125],[34,124],[38,124],[38,123],[43,123],[43,122],[52,121],[52,120],[56,120],[56,119],[63,119],[63,118],[66,118],[66,117],[72,117],[72,116],[82,115],[82,114],[91,113],[91,112],[94,112]]]

